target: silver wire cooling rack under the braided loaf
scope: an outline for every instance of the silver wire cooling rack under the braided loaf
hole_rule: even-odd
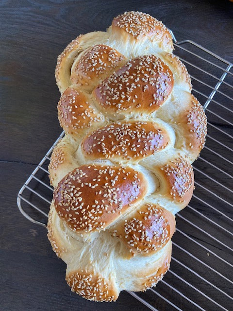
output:
[[[207,141],[194,163],[193,198],[176,215],[170,270],[156,288],[128,293],[153,311],[226,311],[233,305],[233,64],[193,41],[173,40],[205,109]],[[47,168],[63,136],[18,193],[20,212],[38,225],[47,223],[53,191]]]

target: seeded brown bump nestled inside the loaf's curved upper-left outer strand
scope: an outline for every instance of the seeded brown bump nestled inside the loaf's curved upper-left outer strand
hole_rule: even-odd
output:
[[[73,65],[71,82],[91,90],[125,63],[125,57],[107,45],[98,44],[83,52]]]

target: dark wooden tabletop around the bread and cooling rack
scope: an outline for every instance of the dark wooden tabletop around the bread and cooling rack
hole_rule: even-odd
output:
[[[124,292],[113,304],[72,294],[46,229],[17,209],[18,190],[61,133],[57,55],[77,35],[104,31],[129,10],[149,13],[178,40],[192,39],[233,62],[233,3],[227,0],[0,1],[0,310],[147,310]],[[160,298],[154,305],[168,310]]]

